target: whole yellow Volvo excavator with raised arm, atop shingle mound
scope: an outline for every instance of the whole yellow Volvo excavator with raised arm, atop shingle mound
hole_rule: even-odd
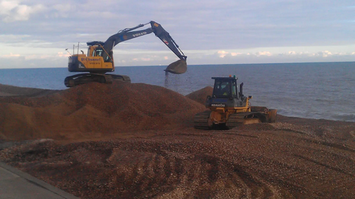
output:
[[[151,28],[144,30],[136,30],[144,25],[151,25]],[[133,31],[136,30],[136,31]],[[86,84],[89,82],[99,82],[105,84],[112,84],[113,79],[119,79],[122,81],[129,81],[129,76],[106,74],[107,72],[114,72],[114,57],[113,48],[120,42],[139,38],[143,35],[154,33],[155,36],[160,38],[165,45],[167,45],[171,51],[178,56],[179,60],[168,65],[165,69],[165,73],[183,74],[187,70],[186,59],[187,56],[180,50],[178,44],[171,38],[170,34],[164,30],[164,28],[155,21],[149,23],[139,24],[133,28],[126,28],[119,30],[118,33],[111,35],[105,42],[92,41],[87,42],[89,46],[87,55],[75,54],[69,57],[68,70],[69,72],[88,72],[67,76],[64,80],[64,84],[67,87],[77,86],[79,84]],[[79,50],[78,50],[79,51]]]

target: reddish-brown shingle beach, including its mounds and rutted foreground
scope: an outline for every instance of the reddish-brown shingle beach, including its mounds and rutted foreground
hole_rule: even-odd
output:
[[[355,198],[355,123],[195,130],[210,91],[114,81],[2,97],[0,160],[80,198]]]

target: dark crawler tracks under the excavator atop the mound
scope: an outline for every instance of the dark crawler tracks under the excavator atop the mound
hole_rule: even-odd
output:
[[[112,84],[113,79],[131,82],[131,78],[129,78],[129,76],[126,75],[84,73],[84,74],[75,74],[72,76],[67,76],[64,80],[64,84],[67,87],[77,86],[80,84],[87,84],[89,82]]]

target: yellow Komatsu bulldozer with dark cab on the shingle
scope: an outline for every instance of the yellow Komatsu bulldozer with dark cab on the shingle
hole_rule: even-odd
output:
[[[236,76],[212,77],[214,89],[207,96],[206,110],[197,113],[194,127],[197,129],[231,129],[242,124],[275,123],[277,110],[263,106],[251,106],[252,96],[244,96],[243,83],[237,84]]]

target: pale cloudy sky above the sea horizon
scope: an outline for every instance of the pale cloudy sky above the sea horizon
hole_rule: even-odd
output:
[[[86,42],[149,21],[187,64],[355,61],[354,0],[0,0],[0,8],[0,68],[67,67],[78,43],[86,54]],[[114,48],[116,67],[177,59],[153,33]]]

